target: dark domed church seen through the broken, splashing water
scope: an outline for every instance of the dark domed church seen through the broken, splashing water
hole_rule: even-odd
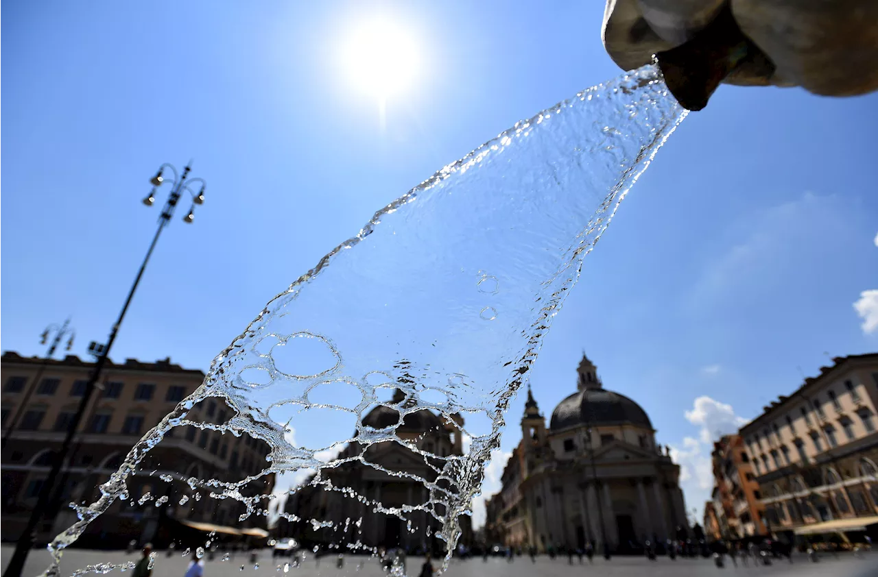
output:
[[[436,538],[442,523],[426,511],[406,512],[405,508],[429,502],[428,488],[420,479],[435,481],[437,472],[443,469],[443,458],[463,454],[460,431],[464,419],[456,414],[453,423],[443,422],[441,417],[426,409],[408,412],[400,419],[400,412],[393,405],[411,408],[414,401],[396,389],[390,402],[378,405],[363,417],[363,425],[375,430],[395,426],[397,438],[431,456],[414,452],[395,441],[370,445],[364,452],[356,441],[350,443],[339,458],[362,454],[364,462],[353,461],[324,468],[322,477],[330,481],[335,490],[306,483],[292,493],[284,509],[290,516],[288,518],[298,517],[298,520],[281,519],[278,536],[296,538],[309,548],[317,545],[324,550],[339,547],[346,551],[347,545],[356,543],[373,550],[444,550],[443,542]],[[340,488],[349,488],[352,492],[337,490]],[[375,511],[376,503],[384,509],[400,509],[401,516]],[[434,506],[442,507],[441,504]],[[440,517],[443,512],[435,510]],[[470,516],[460,516],[458,523],[460,542],[469,544],[472,538]]]

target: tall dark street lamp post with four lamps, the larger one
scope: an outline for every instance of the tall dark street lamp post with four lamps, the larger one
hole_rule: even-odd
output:
[[[189,180],[188,182],[186,180],[191,170],[190,165],[191,162],[189,165],[186,165],[186,167],[184,167],[183,174],[179,174],[176,168],[172,165],[167,163],[162,164],[162,166],[159,167],[158,172],[155,173],[155,176],[153,176],[152,179],[150,179],[149,181],[152,183],[153,189],[149,192],[148,196],[143,199],[143,203],[147,206],[152,206],[153,203],[155,203],[155,193],[162,186],[162,184],[166,182],[164,178],[165,170],[169,170],[174,174],[174,180],[171,185],[168,201],[165,203],[164,208],[162,209],[162,214],[159,215],[158,229],[155,231],[153,241],[149,245],[147,255],[144,257],[143,262],[140,264],[140,270],[137,272],[137,276],[134,277],[134,283],[131,286],[131,290],[128,291],[128,296],[126,297],[125,304],[122,305],[122,310],[119,312],[119,317],[112,325],[110,338],[107,339],[106,345],[91,343],[91,345],[89,346],[90,352],[97,355],[95,367],[89,376],[89,381],[86,382],[85,392],[80,399],[79,406],[77,407],[76,414],[74,415],[73,420],[70,423],[67,435],[64,437],[64,441],[61,443],[61,448],[54,455],[52,468],[49,470],[46,481],[43,482],[42,488],[40,488],[40,497],[37,500],[36,506],[31,511],[30,519],[28,519],[27,525],[25,525],[25,531],[22,531],[21,536],[18,538],[15,552],[12,553],[12,558],[9,561],[9,565],[6,566],[6,572],[4,573],[4,577],[21,577],[21,572],[25,567],[27,554],[28,552],[30,552],[34,538],[36,537],[36,527],[38,524],[40,524],[40,520],[47,511],[47,506],[52,495],[52,488],[54,486],[54,483],[58,478],[58,474],[61,472],[61,466],[64,464],[67,453],[70,450],[70,445],[72,444],[73,438],[76,435],[76,430],[79,428],[79,424],[83,420],[83,415],[88,409],[91,396],[94,395],[95,390],[97,389],[97,381],[100,379],[101,371],[103,370],[107,358],[110,355],[110,350],[112,349],[113,343],[116,341],[116,336],[119,334],[119,326],[125,319],[125,314],[128,311],[128,307],[131,305],[134,292],[137,290],[137,285],[140,284],[140,278],[143,276],[143,272],[147,268],[149,257],[152,256],[153,250],[155,249],[155,244],[158,242],[159,236],[162,234],[162,230],[166,225],[170,223],[171,217],[174,216],[174,210],[176,209],[177,203],[180,202],[180,197],[183,195],[184,191],[188,192],[192,196],[192,206],[189,210],[189,214],[187,214],[183,219],[185,223],[191,223],[194,220],[195,205],[205,202],[205,181],[200,178],[194,178]],[[195,182],[199,182],[201,184],[201,188],[198,189],[197,192],[190,188],[191,185]]]

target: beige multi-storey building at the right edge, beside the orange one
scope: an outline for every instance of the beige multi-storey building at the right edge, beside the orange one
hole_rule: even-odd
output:
[[[878,537],[876,407],[878,353],[838,357],[741,428],[768,531]]]

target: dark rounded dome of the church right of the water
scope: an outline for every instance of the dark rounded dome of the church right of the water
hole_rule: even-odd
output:
[[[650,417],[637,402],[605,388],[583,388],[558,403],[549,428],[560,431],[576,426],[634,424],[652,429]]]

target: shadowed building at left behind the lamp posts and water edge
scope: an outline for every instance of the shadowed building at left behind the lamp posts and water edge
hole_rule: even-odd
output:
[[[0,454],[0,533],[5,540],[18,538],[24,527],[93,367],[94,363],[73,355],[63,360],[25,358],[11,352],[0,356],[0,435],[8,435]],[[97,486],[119,468],[132,445],[204,378],[201,371],[184,369],[169,359],[155,363],[108,361],[102,390],[93,395],[84,413],[50,514],[40,526],[39,539],[46,541],[73,524],[76,516],[68,503],[93,502],[99,495]],[[223,423],[230,417],[232,410],[225,402],[207,399],[196,405],[189,418]],[[115,502],[98,517],[83,535],[83,545],[126,545],[131,538],[168,541],[164,533],[170,530],[159,529],[162,519],[220,525],[234,522],[242,527],[264,524],[263,516],[251,516],[238,524],[237,516],[243,510],[240,503],[201,495],[196,499],[198,491],[185,481],[189,477],[238,481],[262,471],[267,454],[268,445],[246,434],[235,438],[218,431],[178,427],[149,452],[140,471],[129,479],[130,500]],[[170,475],[172,481],[162,481],[162,475]],[[268,493],[272,483],[270,477],[248,491]],[[169,504],[155,507],[154,500],[162,496]],[[180,504],[184,496],[189,498]],[[140,499],[145,499],[142,505],[132,506]]]

